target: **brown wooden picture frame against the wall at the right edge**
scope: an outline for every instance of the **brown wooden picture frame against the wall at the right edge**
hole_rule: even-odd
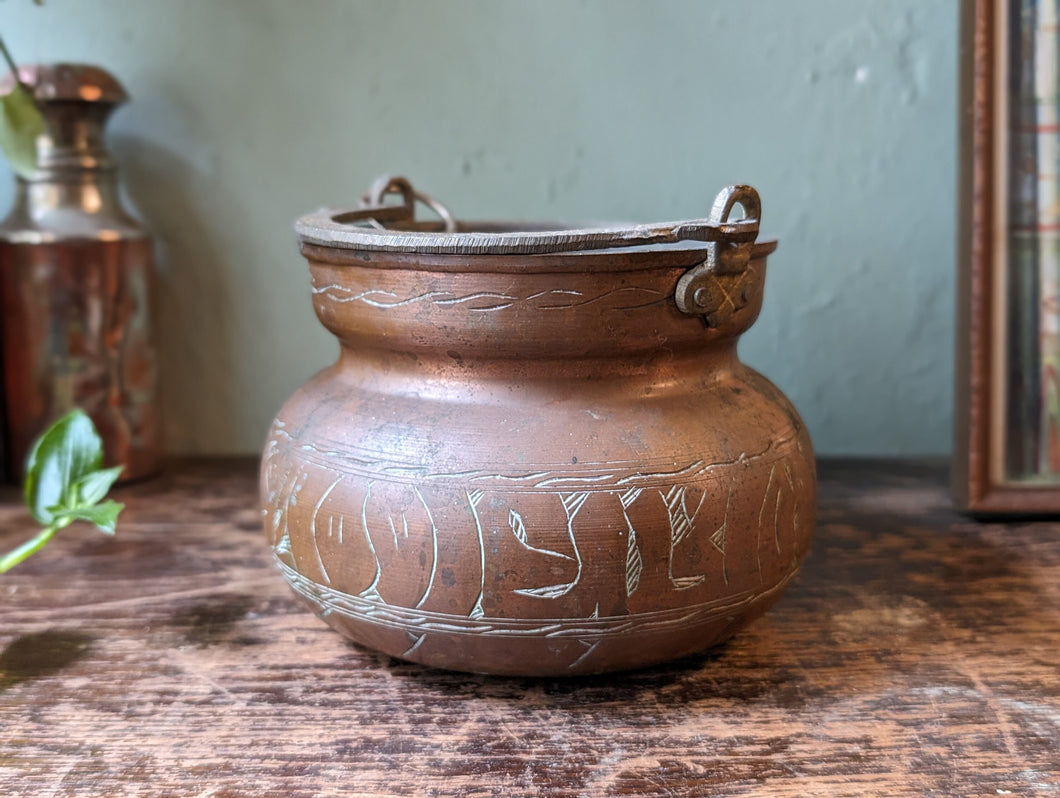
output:
[[[1042,8],[1049,7],[1039,12],[1039,3]],[[1043,336],[1041,321],[1036,321],[1060,323],[1060,312],[1047,317],[1038,315],[1042,307],[1041,297],[1055,299],[1055,294],[1048,292],[1053,290],[1053,283],[1048,283],[1046,292],[1032,295],[1037,305],[1024,301],[1030,295],[1021,291],[1021,281],[1040,280],[1045,271],[1027,268],[1020,254],[1024,250],[1013,249],[1012,244],[1021,234],[1019,230],[1029,230],[1027,235],[1039,235],[1036,241],[1040,242],[1041,231],[1049,227],[1042,226],[1042,220],[1047,220],[1044,216],[1035,217],[1037,226],[1034,228],[1021,228],[1011,221],[1012,218],[1023,219],[1020,209],[1025,206],[1014,203],[1022,201],[1020,187],[1027,184],[1026,181],[1013,183],[1018,176],[1026,174],[1026,159],[1012,157],[1013,153],[1019,155],[1021,152],[1013,147],[1022,146],[1027,130],[1022,125],[1021,111],[1013,112],[1013,108],[1024,107],[1019,103],[1025,99],[1026,68],[1017,67],[1022,72],[1015,78],[1012,71],[1013,64],[1023,64],[1028,57],[1027,6],[1036,6],[1036,15],[1053,14],[1056,1],[965,0],[960,8],[958,338],[953,479],[958,504],[971,513],[984,515],[1060,513],[1060,469],[1055,467],[1054,443],[1048,437],[1054,435],[1054,427],[1050,422],[1046,433],[1041,426],[1045,418],[1043,408],[1053,407],[1054,394],[1048,394],[1048,403],[1043,401],[1045,393],[1042,390],[1035,397],[1032,391],[1024,390],[1022,382],[1026,379],[1021,376],[1032,375],[1035,371],[1023,368],[1026,366],[1024,350],[1020,349],[1023,340],[1029,341],[1030,347],[1025,348],[1029,349],[1035,345],[1034,337],[1039,339],[1042,350],[1038,352],[1039,367],[1046,362],[1041,359],[1042,348],[1047,344],[1052,351],[1056,341],[1060,341],[1060,336],[1054,341],[1052,332]],[[1023,38],[1013,38],[1012,29],[1018,26],[1015,36]],[[1034,39],[1031,45],[1039,47],[1037,41]],[[1052,55],[1045,48],[1034,51],[1034,57]],[[1013,56],[1023,60],[1013,60]],[[1036,68],[1041,70],[1041,64]],[[1057,79],[1060,82],[1060,75]],[[1014,104],[1013,91],[1021,92]],[[1013,125],[1013,120],[1021,124]],[[1056,125],[1037,124],[1034,131],[1041,136],[1043,130],[1053,127]],[[1046,142],[1048,146],[1060,140],[1060,134],[1050,131],[1048,135],[1053,137]],[[1019,164],[1014,170],[1013,162]],[[1056,171],[1054,164],[1054,175]],[[1041,171],[1031,177],[1040,180]],[[1041,188],[1031,187],[1030,191],[1036,196],[1043,193]],[[1017,211],[1013,212],[1013,208]],[[1053,232],[1045,235],[1055,237]],[[1040,244],[1035,246],[1042,252],[1047,249],[1052,258],[1052,244],[1048,248]],[[1035,251],[1038,253],[1039,249]],[[1025,318],[1027,314],[1034,314],[1034,318]],[[1031,332],[1026,332],[1028,330]],[[1048,385],[1053,385],[1052,378]],[[1031,398],[1028,401],[1027,396]],[[1034,412],[1025,412],[1027,407]],[[1037,424],[1037,428],[1028,429],[1028,423]],[[1035,464],[1042,462],[1042,455],[1034,450],[1042,441],[1049,448],[1050,460],[1048,467],[1036,471]]]

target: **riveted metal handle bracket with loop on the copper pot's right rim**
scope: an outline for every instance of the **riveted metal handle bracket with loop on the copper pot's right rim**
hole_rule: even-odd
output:
[[[724,229],[732,209],[743,207],[744,218],[740,221],[744,230],[753,235],[723,237],[707,244],[707,260],[693,266],[677,281],[674,300],[677,307],[692,316],[704,316],[710,326],[717,326],[723,319],[719,311],[731,304],[730,314],[747,304],[747,264],[750,250],[758,237],[758,227],[762,218],[762,200],[758,192],[749,185],[729,185],[722,189],[710,209],[710,224]]]

